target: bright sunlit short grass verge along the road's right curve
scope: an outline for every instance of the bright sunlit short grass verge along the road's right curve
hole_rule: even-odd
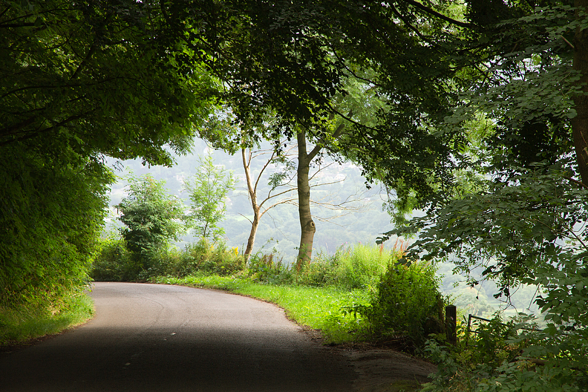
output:
[[[361,339],[361,320],[344,316],[340,309],[357,303],[366,304],[370,297],[366,289],[261,284],[226,276],[158,277],[152,282],[226,290],[275,303],[298,324],[322,330],[327,343]]]

